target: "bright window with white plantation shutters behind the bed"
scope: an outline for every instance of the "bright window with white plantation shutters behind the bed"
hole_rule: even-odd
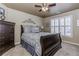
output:
[[[63,36],[71,36],[72,16],[65,16],[51,20],[51,33],[61,33]]]

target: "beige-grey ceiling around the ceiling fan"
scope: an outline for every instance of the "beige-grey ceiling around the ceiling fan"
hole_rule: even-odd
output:
[[[5,3],[5,5],[9,8],[27,12],[43,18],[79,9],[79,3],[56,3],[56,6],[49,8],[49,12],[38,12],[40,8],[34,7],[35,4],[41,5],[41,3]]]

